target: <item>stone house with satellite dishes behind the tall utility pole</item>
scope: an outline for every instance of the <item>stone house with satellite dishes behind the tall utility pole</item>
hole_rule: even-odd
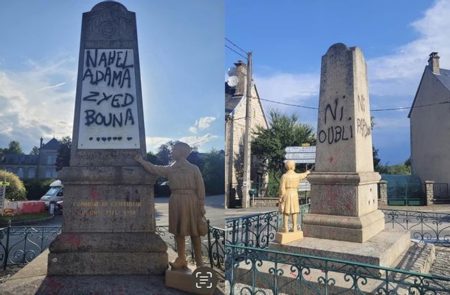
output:
[[[236,64],[238,85],[225,83],[225,206],[234,207],[242,200],[242,177],[244,159],[245,115],[247,107],[247,65],[239,61]],[[256,126],[268,128],[262,109],[260,96],[255,85],[251,89],[251,130]],[[253,133],[251,133],[251,139]],[[262,172],[262,162],[251,155],[251,181],[267,183]]]

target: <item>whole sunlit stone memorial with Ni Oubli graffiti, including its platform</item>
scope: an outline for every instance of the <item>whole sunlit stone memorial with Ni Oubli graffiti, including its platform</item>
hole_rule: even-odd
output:
[[[359,47],[334,44],[322,57],[316,146],[304,238],[270,248],[375,266],[408,260],[410,232],[385,229],[377,209],[380,176],[373,170],[367,69]]]

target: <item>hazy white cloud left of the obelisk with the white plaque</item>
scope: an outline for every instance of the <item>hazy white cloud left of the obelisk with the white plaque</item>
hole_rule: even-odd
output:
[[[75,82],[61,80],[70,81],[76,66],[74,58],[63,58],[28,60],[20,71],[0,67],[0,146],[17,140],[28,153],[41,136],[72,135]]]

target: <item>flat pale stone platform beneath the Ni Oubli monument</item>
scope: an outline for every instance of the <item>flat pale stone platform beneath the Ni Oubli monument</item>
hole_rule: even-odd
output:
[[[284,245],[272,242],[268,248],[288,253],[390,267],[411,245],[410,239],[410,231],[385,229],[364,243],[305,237]]]

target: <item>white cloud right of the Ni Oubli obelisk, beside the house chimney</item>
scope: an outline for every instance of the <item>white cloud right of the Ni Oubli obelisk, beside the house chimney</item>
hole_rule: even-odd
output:
[[[440,66],[450,66],[450,1],[436,1],[423,18],[412,23],[419,37],[395,53],[367,61],[371,93],[414,95],[429,53],[438,51]],[[364,49],[363,49],[364,50]]]

